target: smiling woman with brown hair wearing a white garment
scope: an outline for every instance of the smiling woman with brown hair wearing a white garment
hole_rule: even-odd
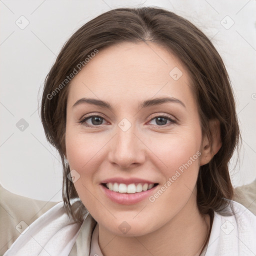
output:
[[[45,79],[41,119],[62,159],[63,203],[4,255],[256,252],[256,217],[232,201],[228,74],[189,21],[143,7],[87,22]]]

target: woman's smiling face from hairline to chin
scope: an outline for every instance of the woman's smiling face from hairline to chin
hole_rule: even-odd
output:
[[[82,203],[105,230],[147,234],[196,205],[202,138],[189,84],[171,52],[142,42],[99,50],[71,80],[66,157]]]

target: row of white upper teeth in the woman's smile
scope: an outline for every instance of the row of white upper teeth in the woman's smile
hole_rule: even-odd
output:
[[[135,185],[134,183],[128,184],[128,185],[123,183],[118,184],[117,182],[106,183],[106,187],[111,191],[119,192],[119,193],[130,193],[130,194],[146,191],[148,189],[151,189],[153,186],[154,184],[147,184],[147,183],[144,183],[143,185],[141,183],[138,183],[137,185]]]

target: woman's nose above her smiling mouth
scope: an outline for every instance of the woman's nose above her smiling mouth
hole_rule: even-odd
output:
[[[123,131],[118,126],[116,134],[111,139],[108,152],[108,160],[119,168],[128,169],[145,161],[145,148],[143,138],[140,138],[132,125],[128,130]]]

